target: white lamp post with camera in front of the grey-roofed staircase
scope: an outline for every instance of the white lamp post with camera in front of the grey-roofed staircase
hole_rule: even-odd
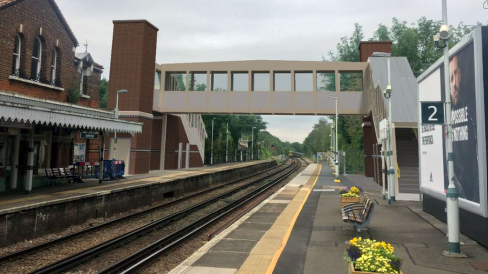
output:
[[[388,57],[388,86],[383,90],[383,96],[388,100],[388,148],[386,150],[386,155],[388,156],[388,193],[389,199],[388,204],[396,201],[396,183],[395,183],[395,169],[393,168],[393,116],[391,114],[391,54]]]

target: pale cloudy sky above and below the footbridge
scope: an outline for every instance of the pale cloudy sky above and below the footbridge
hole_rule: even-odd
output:
[[[81,44],[109,78],[112,20],[147,19],[159,28],[158,63],[321,60],[350,35],[366,38],[391,18],[442,19],[441,0],[56,0]],[[449,23],[488,22],[488,0],[448,0]],[[80,46],[78,51],[84,51]],[[265,116],[269,131],[302,142],[318,117]]]

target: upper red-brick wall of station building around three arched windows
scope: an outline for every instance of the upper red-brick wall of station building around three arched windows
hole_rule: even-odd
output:
[[[41,73],[51,80],[52,52],[56,47],[56,39],[59,40],[58,65],[56,75],[62,81],[64,92],[44,88],[35,84],[20,83],[9,80],[12,72],[13,49],[15,36],[23,25],[21,64],[20,67],[27,75],[30,75],[33,40],[40,35],[42,28],[42,61]],[[0,8],[0,90],[25,94],[32,97],[66,102],[67,92],[73,87],[79,87],[79,74],[74,65],[73,47],[77,44],[67,32],[66,26],[56,14],[56,9],[51,0],[26,0],[7,8]],[[89,77],[90,78],[90,77]],[[89,80],[96,85],[97,76]],[[78,105],[99,107],[98,88],[92,87],[92,98],[81,99]]]

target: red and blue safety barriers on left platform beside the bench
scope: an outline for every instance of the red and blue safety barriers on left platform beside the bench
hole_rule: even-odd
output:
[[[100,162],[76,162],[73,173],[81,179],[100,178]],[[113,180],[125,174],[125,162],[122,160],[103,161],[103,180]]]

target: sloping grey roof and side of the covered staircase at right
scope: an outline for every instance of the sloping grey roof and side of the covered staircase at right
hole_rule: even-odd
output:
[[[369,57],[374,85],[388,86],[388,58]],[[417,122],[418,84],[406,57],[391,57],[392,121]],[[385,100],[388,109],[388,101]]]

